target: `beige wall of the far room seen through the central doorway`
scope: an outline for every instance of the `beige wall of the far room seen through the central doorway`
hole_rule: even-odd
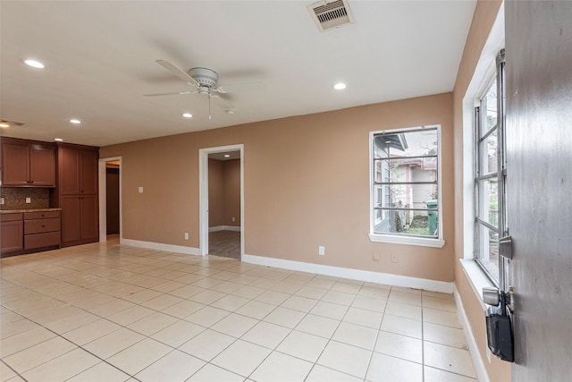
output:
[[[240,159],[208,159],[208,226],[220,225],[240,226]]]

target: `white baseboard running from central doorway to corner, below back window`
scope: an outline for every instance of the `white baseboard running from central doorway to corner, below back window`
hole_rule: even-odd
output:
[[[324,276],[349,278],[352,280],[366,281],[377,284],[389,284],[407,288],[423,289],[425,291],[453,293],[453,283],[435,281],[425,278],[391,275],[389,273],[372,272],[360,269],[344,267],[324,266],[314,263],[305,263],[286,259],[265,258],[263,256],[242,255],[242,261],[266,267],[278,267],[283,269],[297,270],[300,272],[315,273]]]

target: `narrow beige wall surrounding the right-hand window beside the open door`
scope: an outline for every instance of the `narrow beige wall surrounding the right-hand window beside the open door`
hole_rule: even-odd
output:
[[[463,194],[463,98],[467,87],[475,72],[484,43],[488,38],[492,24],[499,13],[501,1],[479,0],[463,58],[458,70],[457,82],[453,93],[454,123],[455,123],[455,280],[458,293],[467,313],[467,319],[473,330],[480,356],[492,382],[510,380],[510,364],[499,361],[492,356],[489,363],[486,357],[486,331],[484,326],[484,310],[477,300],[475,292],[465,275],[458,259],[464,257],[463,253],[463,199],[472,198],[472,195]],[[470,157],[467,157],[470,160]]]

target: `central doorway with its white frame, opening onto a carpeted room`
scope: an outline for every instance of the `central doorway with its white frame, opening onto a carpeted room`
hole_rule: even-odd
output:
[[[199,150],[200,253],[244,253],[243,145]]]

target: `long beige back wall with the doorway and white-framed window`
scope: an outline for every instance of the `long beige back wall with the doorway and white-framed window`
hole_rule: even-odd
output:
[[[141,140],[100,155],[122,157],[126,239],[198,248],[198,149],[242,143],[245,253],[453,281],[452,115],[447,93]],[[424,124],[442,125],[446,244],[370,242],[369,132]],[[318,256],[319,245],[325,256]]]

